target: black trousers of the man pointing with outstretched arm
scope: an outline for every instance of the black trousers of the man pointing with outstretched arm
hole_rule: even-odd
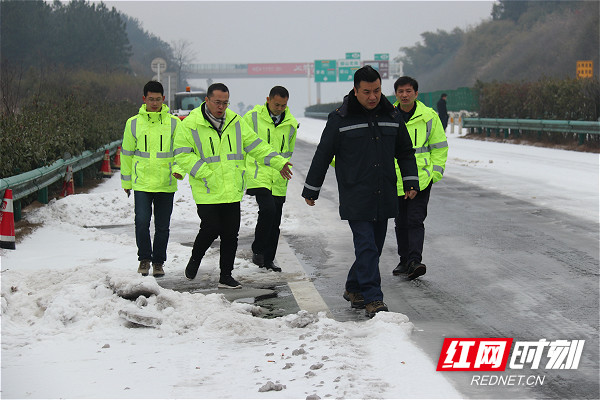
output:
[[[192,257],[202,260],[206,250],[217,237],[220,237],[221,275],[231,275],[240,230],[240,203],[196,204],[196,206],[200,217],[200,230],[194,241]]]

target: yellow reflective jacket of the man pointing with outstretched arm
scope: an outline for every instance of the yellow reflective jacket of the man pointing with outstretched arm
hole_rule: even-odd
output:
[[[179,125],[175,160],[190,174],[196,204],[234,203],[244,195],[245,157],[280,171],[286,160],[254,133],[235,112],[227,109],[221,134],[204,117],[205,103]]]

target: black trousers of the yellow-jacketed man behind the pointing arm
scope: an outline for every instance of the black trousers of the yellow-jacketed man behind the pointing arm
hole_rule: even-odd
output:
[[[256,195],[256,202],[258,203],[258,219],[254,229],[252,251],[256,254],[263,254],[265,264],[269,264],[275,259],[277,252],[279,225],[285,196],[273,196],[270,192],[261,193]]]

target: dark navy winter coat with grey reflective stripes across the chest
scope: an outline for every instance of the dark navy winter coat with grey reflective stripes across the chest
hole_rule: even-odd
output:
[[[398,214],[397,159],[404,187],[419,190],[415,151],[398,110],[381,96],[367,111],[354,91],[329,114],[313,157],[302,197],[316,200],[329,164],[335,156],[340,217],[355,221],[382,221]]]

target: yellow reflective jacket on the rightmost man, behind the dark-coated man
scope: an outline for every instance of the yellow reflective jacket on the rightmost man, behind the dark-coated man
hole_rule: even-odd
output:
[[[416,101],[415,113],[406,122],[406,129],[415,149],[419,170],[419,187],[424,190],[429,183],[441,180],[448,158],[448,140],[439,116],[433,108]],[[398,101],[394,103],[398,106]],[[396,165],[398,196],[404,196],[402,174]]]

